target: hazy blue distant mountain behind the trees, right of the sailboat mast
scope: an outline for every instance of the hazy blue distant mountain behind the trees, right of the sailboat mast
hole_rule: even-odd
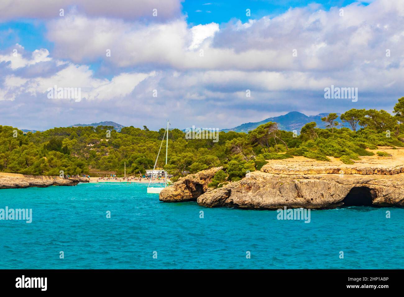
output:
[[[336,119],[337,122],[341,123],[341,119],[339,118],[340,114],[337,114],[338,118]],[[278,128],[280,130],[285,131],[293,131],[297,130],[297,133],[300,133],[300,129],[309,122],[316,122],[318,128],[325,128],[326,124],[321,120],[324,116],[328,116],[328,113],[318,114],[316,116],[306,116],[301,112],[289,112],[284,114],[283,116],[275,116],[273,118],[267,118],[262,120],[261,122],[250,122],[241,124],[240,126],[231,128],[231,129],[223,129],[221,131],[228,132],[228,131],[235,131],[235,132],[245,132],[254,130],[259,125],[265,124],[267,122],[276,122],[278,123]],[[341,126],[339,126],[341,127]]]

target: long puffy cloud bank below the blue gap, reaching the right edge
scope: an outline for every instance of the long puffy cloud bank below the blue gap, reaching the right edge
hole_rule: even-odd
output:
[[[398,63],[402,0],[343,9],[341,17],[336,7],[291,8],[272,19],[230,22],[220,29],[216,23],[188,28],[185,19],[146,25],[75,15],[51,21],[48,38],[57,57],[76,63],[102,58],[117,67],[339,72]],[[396,53],[388,62],[387,49]]]

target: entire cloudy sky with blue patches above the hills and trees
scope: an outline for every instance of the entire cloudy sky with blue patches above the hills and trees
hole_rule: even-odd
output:
[[[222,129],[291,111],[392,112],[404,96],[404,0],[110,3],[0,2],[0,125]],[[332,85],[358,100],[326,99]]]

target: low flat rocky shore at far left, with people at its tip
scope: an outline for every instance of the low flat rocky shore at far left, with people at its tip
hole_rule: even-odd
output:
[[[0,173],[0,189],[19,189],[26,187],[49,187],[50,185],[77,185],[88,183],[85,177],[63,179],[59,176],[23,175],[16,173]]]

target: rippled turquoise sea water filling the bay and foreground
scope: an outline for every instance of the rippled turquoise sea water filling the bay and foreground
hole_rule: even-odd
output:
[[[402,208],[311,211],[304,223],[276,211],[163,203],[126,183],[0,190],[6,206],[32,209],[33,219],[0,220],[1,269],[404,268]]]

